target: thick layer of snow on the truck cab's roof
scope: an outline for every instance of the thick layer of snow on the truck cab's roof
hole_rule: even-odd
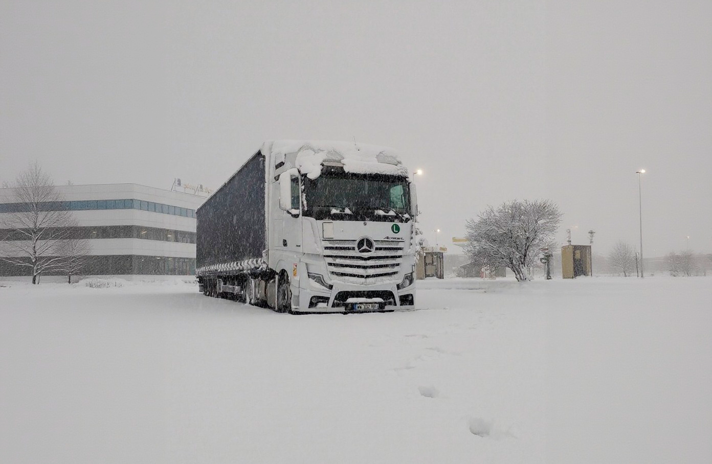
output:
[[[262,152],[271,152],[276,162],[293,164],[302,174],[316,179],[324,162],[337,162],[345,172],[408,176],[398,153],[389,147],[332,140],[273,140]]]

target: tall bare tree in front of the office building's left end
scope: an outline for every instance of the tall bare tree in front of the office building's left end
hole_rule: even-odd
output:
[[[16,203],[0,214],[0,260],[31,268],[32,283],[42,273],[57,270],[63,261],[58,246],[68,237],[72,214],[63,210],[63,198],[53,181],[35,162],[17,176]]]

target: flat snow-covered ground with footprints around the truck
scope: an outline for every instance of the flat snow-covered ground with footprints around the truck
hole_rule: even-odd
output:
[[[0,285],[1,463],[712,462],[712,278],[426,280],[422,310],[308,316]]]

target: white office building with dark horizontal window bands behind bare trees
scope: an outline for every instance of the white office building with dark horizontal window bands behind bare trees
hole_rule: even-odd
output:
[[[138,184],[57,186],[63,201],[46,207],[71,211],[78,226],[70,238],[86,238],[90,255],[82,275],[193,275],[195,210],[204,198]],[[0,189],[0,239],[9,237],[3,216],[26,211],[15,189]],[[9,248],[0,248],[7,253]],[[0,260],[0,276],[30,275],[26,266]],[[50,275],[52,273],[49,273]]]

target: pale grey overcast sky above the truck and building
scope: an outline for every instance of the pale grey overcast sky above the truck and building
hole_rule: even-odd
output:
[[[712,252],[712,1],[0,0],[0,181],[213,188],[266,139],[394,147],[440,244],[547,198]],[[378,5],[377,5],[378,4]]]

